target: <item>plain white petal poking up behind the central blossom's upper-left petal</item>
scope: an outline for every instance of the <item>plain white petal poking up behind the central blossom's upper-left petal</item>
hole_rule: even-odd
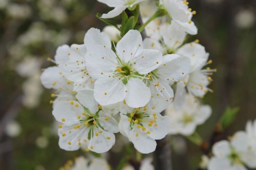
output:
[[[100,32],[99,29],[91,28],[84,36],[83,40],[87,50],[90,50],[95,45],[102,45],[111,48],[111,40],[108,34]]]

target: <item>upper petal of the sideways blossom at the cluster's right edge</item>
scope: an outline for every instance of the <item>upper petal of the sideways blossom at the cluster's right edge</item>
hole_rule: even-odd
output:
[[[181,46],[176,53],[190,59],[191,72],[201,69],[208,59],[204,46],[195,42]]]

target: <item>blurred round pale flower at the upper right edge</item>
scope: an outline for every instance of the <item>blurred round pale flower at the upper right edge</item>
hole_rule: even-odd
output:
[[[255,11],[251,9],[239,10],[235,17],[237,27],[241,29],[252,27],[255,23],[255,14]]]

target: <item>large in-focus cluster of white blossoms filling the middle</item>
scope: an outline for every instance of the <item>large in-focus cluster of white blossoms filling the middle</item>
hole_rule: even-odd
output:
[[[98,1],[115,7],[102,18],[115,17],[142,2]],[[56,99],[50,103],[55,119],[62,123],[58,130],[61,149],[85,148],[103,153],[113,147],[114,133],[120,132],[139,152],[151,153],[156,149],[156,140],[172,129],[170,118],[160,113],[174,100],[179,110],[211,91],[207,86],[215,70],[202,69],[211,63],[207,61],[208,53],[198,40],[183,44],[187,33],[197,33],[191,21],[196,12],[188,8],[186,1],[164,0],[160,6],[172,16],[172,23],[166,23],[165,17],[160,18],[163,23],[152,21],[148,27],[154,28],[146,28],[148,38],[144,41],[133,29],[119,38],[118,30],[109,36],[105,32],[111,32],[110,28],[105,32],[91,28],[83,44],[59,46],[55,59],[48,59],[56,66],[44,70],[41,82],[55,90],[51,96]],[[188,101],[191,98],[193,102]],[[191,122],[188,128],[194,128],[185,130],[188,135],[208,118],[211,110],[198,104],[192,106],[194,110],[186,107],[191,106],[184,106],[180,116],[186,123]],[[118,114],[119,122],[113,117]],[[183,120],[173,118],[173,125],[179,121]],[[178,133],[187,128],[178,124]]]

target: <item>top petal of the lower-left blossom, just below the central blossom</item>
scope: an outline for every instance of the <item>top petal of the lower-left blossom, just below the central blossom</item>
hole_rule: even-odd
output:
[[[98,111],[98,103],[93,96],[93,90],[79,90],[76,94],[76,99],[92,113]]]

